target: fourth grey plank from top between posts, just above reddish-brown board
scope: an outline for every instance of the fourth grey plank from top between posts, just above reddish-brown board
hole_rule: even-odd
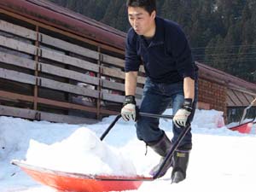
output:
[[[94,98],[98,98],[99,96],[98,90],[90,90],[84,87],[80,87],[78,85],[65,84],[65,83],[57,82],[51,79],[44,79],[44,78],[38,78],[38,79],[40,79],[40,86],[47,87],[49,89],[66,91],[66,92],[77,94],[80,96],[91,96]]]

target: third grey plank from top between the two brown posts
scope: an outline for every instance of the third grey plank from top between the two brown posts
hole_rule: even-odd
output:
[[[68,78],[77,80],[79,82],[88,83],[88,84],[99,84],[99,79],[96,77],[91,77],[84,73],[75,72],[72,70],[67,70],[61,67],[55,67],[46,63],[39,62],[39,72],[53,74],[59,77]]]

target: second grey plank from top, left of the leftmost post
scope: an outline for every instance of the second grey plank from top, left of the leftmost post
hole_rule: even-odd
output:
[[[20,42],[13,38],[5,38],[0,35],[0,45],[3,47],[7,47],[9,49],[15,49],[21,52],[25,52],[27,54],[36,55],[37,47],[32,44],[26,44],[24,42]]]

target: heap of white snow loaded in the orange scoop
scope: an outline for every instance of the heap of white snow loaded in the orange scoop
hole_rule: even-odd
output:
[[[26,163],[62,172],[135,176],[136,168],[119,150],[102,142],[85,127],[60,143],[47,145],[30,141]]]

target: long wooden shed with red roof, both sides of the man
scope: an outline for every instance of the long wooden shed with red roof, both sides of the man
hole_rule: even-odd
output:
[[[0,1],[0,115],[72,124],[117,114],[125,33],[44,0]],[[198,108],[247,106],[256,84],[198,63]],[[137,99],[144,83],[140,68]]]

